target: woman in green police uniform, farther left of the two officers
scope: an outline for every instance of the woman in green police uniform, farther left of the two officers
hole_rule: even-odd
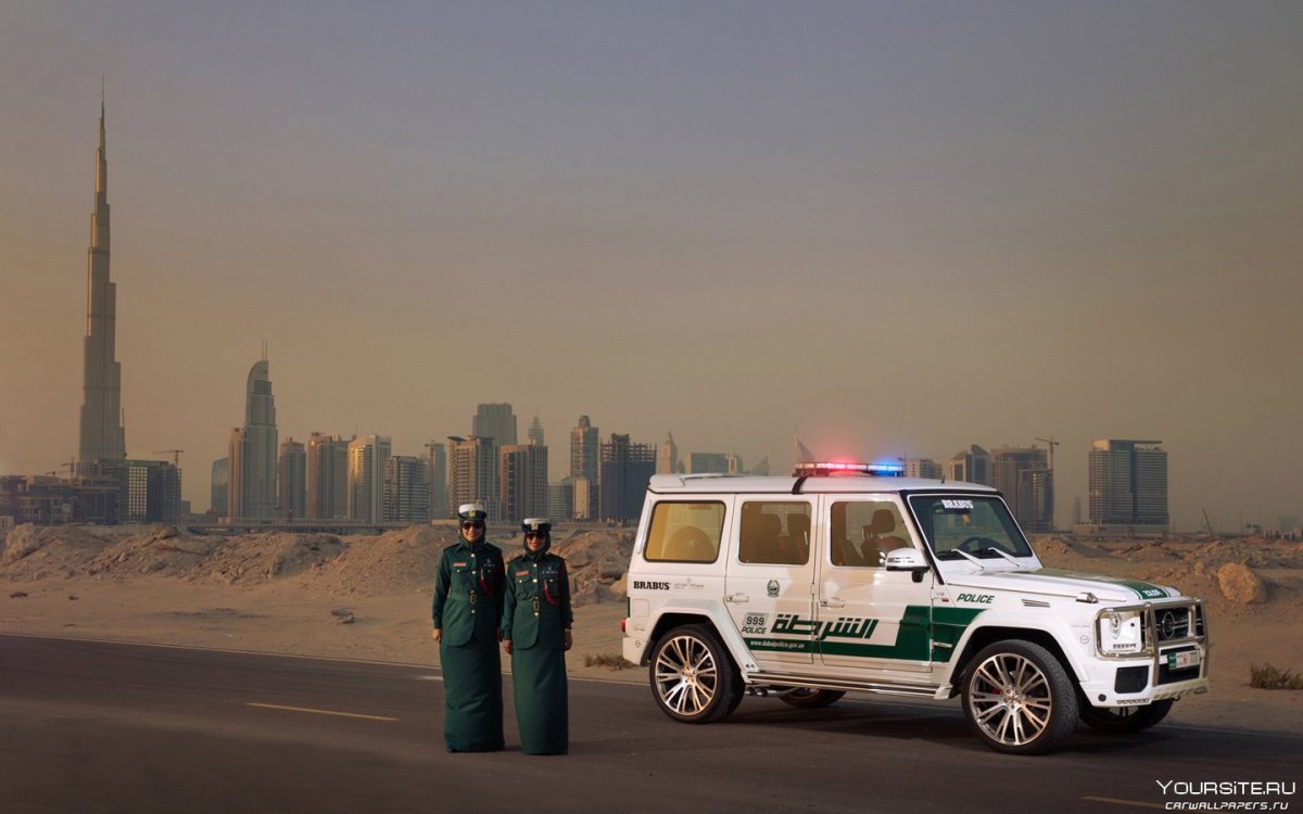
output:
[[[460,539],[443,550],[434,581],[434,641],[443,666],[448,751],[496,751],[502,737],[502,550],[485,540],[483,504],[457,509]]]

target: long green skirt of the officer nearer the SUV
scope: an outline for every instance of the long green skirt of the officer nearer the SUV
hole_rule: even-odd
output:
[[[520,750],[566,754],[569,749],[566,651],[517,647],[511,654],[511,686],[516,697]]]

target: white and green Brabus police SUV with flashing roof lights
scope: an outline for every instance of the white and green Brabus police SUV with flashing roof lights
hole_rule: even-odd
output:
[[[1078,719],[1139,732],[1208,690],[1200,600],[1042,568],[995,490],[899,474],[652,478],[624,656],[666,715],[719,720],[748,692],[959,695],[992,749],[1037,754]]]

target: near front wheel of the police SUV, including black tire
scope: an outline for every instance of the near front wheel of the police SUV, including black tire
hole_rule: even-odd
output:
[[[982,742],[1005,754],[1042,754],[1076,728],[1076,689],[1045,647],[995,642],[964,671],[964,719]]]

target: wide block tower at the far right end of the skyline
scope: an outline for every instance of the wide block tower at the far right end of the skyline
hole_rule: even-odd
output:
[[[1167,530],[1167,453],[1162,442],[1095,442],[1089,466],[1089,524],[1113,530],[1161,534]]]

